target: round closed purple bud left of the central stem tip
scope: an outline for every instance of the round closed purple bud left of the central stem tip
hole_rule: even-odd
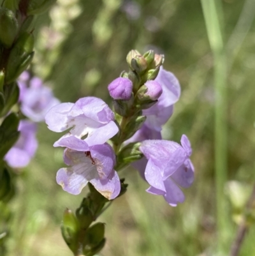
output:
[[[108,91],[114,100],[129,100],[132,88],[131,80],[125,77],[118,77],[108,85]]]

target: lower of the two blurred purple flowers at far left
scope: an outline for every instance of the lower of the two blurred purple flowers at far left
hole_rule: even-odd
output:
[[[36,140],[37,126],[35,123],[20,120],[18,130],[20,131],[20,137],[4,156],[4,160],[13,168],[22,168],[28,165],[38,146]]]

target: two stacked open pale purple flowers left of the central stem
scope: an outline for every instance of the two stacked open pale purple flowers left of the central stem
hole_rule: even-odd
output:
[[[45,121],[54,132],[71,128],[54,143],[55,147],[66,147],[64,163],[70,166],[57,172],[57,183],[63,190],[77,195],[90,182],[107,199],[117,197],[120,180],[113,169],[115,154],[106,141],[119,129],[108,105],[95,97],[61,103],[48,111]]]

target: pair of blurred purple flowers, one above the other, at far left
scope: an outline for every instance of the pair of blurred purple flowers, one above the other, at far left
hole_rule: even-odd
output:
[[[38,146],[36,123],[44,121],[48,110],[60,103],[54,97],[52,90],[43,85],[41,79],[31,77],[28,72],[23,72],[20,75],[18,87],[20,90],[18,98],[20,110],[30,121],[27,119],[20,120],[18,126],[20,137],[4,156],[4,160],[13,168],[22,168],[29,164]]]

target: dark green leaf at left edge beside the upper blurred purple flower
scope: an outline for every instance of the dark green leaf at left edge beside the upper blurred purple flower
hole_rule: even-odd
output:
[[[5,105],[3,110],[0,112],[0,116],[5,116],[11,109],[13,105],[18,102],[18,96],[20,94],[20,89],[16,82],[4,86],[4,101]]]

